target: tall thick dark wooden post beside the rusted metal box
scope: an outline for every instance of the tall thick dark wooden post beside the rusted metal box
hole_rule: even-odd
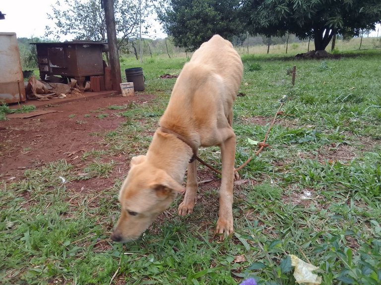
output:
[[[117,31],[115,28],[114,0],[103,0],[105,9],[105,21],[107,30],[107,43],[109,45],[111,77],[113,89],[122,93],[120,84],[122,83],[121,65],[119,62]]]

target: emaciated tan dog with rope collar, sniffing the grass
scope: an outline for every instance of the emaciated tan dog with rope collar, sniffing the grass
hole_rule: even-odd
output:
[[[233,45],[219,35],[203,43],[176,81],[146,155],[131,159],[119,194],[122,214],[111,238],[138,238],[165,211],[182,187],[188,167],[187,190],[179,215],[193,212],[197,192],[200,146],[218,145],[222,181],[216,234],[233,233],[233,180],[236,137],[232,105],[241,85],[243,65]]]

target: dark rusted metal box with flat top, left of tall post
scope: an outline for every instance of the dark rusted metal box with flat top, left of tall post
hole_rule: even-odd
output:
[[[41,79],[45,75],[81,78],[103,75],[102,52],[107,44],[73,41],[63,43],[32,43],[36,45]]]

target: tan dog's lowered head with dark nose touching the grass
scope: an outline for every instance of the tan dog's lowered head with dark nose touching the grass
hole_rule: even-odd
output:
[[[119,193],[122,213],[111,239],[128,241],[139,236],[164,212],[184,188],[145,155],[133,157]]]

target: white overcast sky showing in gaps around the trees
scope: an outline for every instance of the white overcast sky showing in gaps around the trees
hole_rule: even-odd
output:
[[[5,15],[5,20],[0,20],[0,32],[14,32],[18,38],[44,37],[45,26],[53,25],[53,21],[48,20],[47,13],[52,12],[51,5],[57,0],[0,0],[0,11]],[[161,31],[159,23],[154,23],[154,29],[150,38],[165,38],[167,35]],[[370,37],[377,36],[376,31],[370,34]],[[379,35],[381,35],[381,28]],[[61,38],[72,40],[72,36]]]

